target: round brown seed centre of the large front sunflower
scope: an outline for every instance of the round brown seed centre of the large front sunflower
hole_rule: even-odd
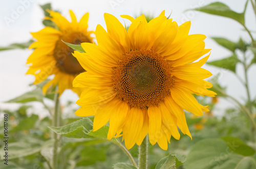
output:
[[[169,64],[153,50],[126,53],[113,76],[117,96],[131,106],[158,105],[172,86]]]

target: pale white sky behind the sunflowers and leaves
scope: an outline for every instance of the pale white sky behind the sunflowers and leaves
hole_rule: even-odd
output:
[[[12,0],[0,1],[0,46],[6,46],[11,43],[25,42],[31,39],[30,32],[37,32],[41,30],[44,25],[41,19],[44,13],[39,5],[52,3],[54,10],[61,11],[62,15],[69,18],[69,10],[73,10],[77,18],[86,13],[90,13],[89,30],[94,30],[97,24],[105,27],[103,14],[111,13],[115,15],[121,22],[124,22],[120,15],[127,14],[131,16],[138,16],[140,13],[159,15],[165,10],[166,15],[172,12],[171,17],[178,23],[183,23],[191,20],[190,34],[204,34],[207,36],[205,43],[206,48],[211,48],[211,55],[209,61],[218,60],[228,57],[231,52],[223,47],[220,47],[210,37],[225,37],[227,39],[238,41],[242,37],[245,41],[250,41],[249,36],[243,31],[243,27],[236,21],[228,18],[209,15],[201,12],[184,12],[187,9],[198,6],[205,6],[215,1],[207,0],[73,0],[73,1],[46,1],[46,0]],[[228,5],[236,12],[244,10],[245,0],[219,0]],[[115,3],[116,6],[111,6]],[[22,8],[25,6],[25,8]],[[23,10],[25,9],[25,10]],[[19,10],[20,14],[15,16],[13,22],[7,24],[6,17],[12,18],[15,12]],[[253,15],[252,7],[248,4],[246,12],[246,25],[249,30],[255,31],[255,17]],[[130,24],[126,21],[126,24]],[[255,37],[255,34],[254,34]],[[9,50],[0,52],[0,106],[3,108],[15,107],[15,104],[3,103],[9,99],[19,96],[31,90],[29,84],[34,81],[32,75],[25,75],[28,67],[26,60],[32,50]],[[220,82],[223,86],[227,86],[227,93],[243,101],[246,98],[246,92],[241,83],[234,77],[232,73],[227,70],[220,70],[211,66],[204,66],[212,74],[221,72]],[[243,77],[242,66],[238,65],[237,70]],[[255,98],[255,74],[256,66],[249,70],[249,87],[251,97]],[[71,91],[66,91],[61,96],[61,102],[65,103],[67,100],[76,101],[78,97]],[[225,100],[221,100],[218,105],[218,110],[215,110],[216,115],[223,114],[224,108],[232,106]],[[0,107],[0,108],[1,108]]]

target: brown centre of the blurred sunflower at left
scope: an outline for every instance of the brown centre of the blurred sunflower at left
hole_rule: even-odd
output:
[[[54,49],[54,59],[57,61],[56,66],[60,71],[68,74],[84,72],[84,69],[81,67],[77,59],[72,55],[74,50],[61,40],[76,45],[79,45],[82,42],[91,42],[91,40],[82,33],[65,34],[56,42]]]

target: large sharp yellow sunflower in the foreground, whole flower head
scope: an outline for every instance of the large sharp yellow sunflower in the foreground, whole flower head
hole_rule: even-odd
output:
[[[147,22],[144,15],[134,19],[129,30],[111,14],[104,14],[107,32],[97,25],[98,45],[81,43],[87,53],[74,51],[87,70],[73,81],[87,87],[77,104],[77,116],[95,116],[94,131],[110,121],[108,139],[119,136],[127,149],[140,145],[149,135],[150,143],[167,150],[170,137],[181,132],[191,137],[184,110],[197,116],[208,111],[192,94],[214,97],[208,91],[212,74],[201,68],[209,55],[193,63],[210,49],[204,49],[204,35],[188,35],[190,21],[178,26],[160,16]]]

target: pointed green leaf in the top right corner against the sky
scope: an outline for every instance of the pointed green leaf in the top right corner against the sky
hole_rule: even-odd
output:
[[[193,10],[205,12],[212,15],[228,17],[244,25],[244,14],[245,14],[247,3],[248,1],[246,2],[243,13],[234,12],[227,5],[220,2],[212,3],[200,8],[195,8]]]

